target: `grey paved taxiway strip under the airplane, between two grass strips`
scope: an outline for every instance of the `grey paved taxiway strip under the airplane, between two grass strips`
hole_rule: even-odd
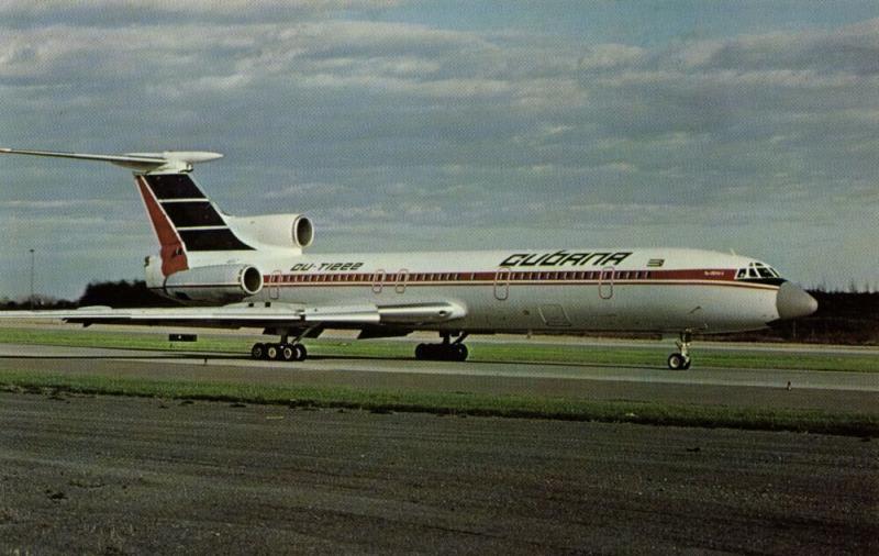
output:
[[[771,357],[770,352],[767,357]],[[312,357],[301,363],[281,363],[254,360],[244,354],[18,344],[0,344],[0,369],[879,413],[879,374],[875,372],[746,368],[681,371],[659,366],[363,357]]]

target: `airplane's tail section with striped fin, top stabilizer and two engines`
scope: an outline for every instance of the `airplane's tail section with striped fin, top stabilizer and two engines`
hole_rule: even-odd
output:
[[[259,293],[258,262],[272,255],[301,255],[314,229],[302,214],[236,218],[213,203],[190,176],[198,163],[223,155],[166,151],[96,155],[0,148],[22,154],[101,160],[133,170],[153,231],[158,257],[145,263],[147,287],[182,302],[229,302]]]

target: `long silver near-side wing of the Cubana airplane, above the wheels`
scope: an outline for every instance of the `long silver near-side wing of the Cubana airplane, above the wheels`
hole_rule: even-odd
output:
[[[111,309],[85,307],[69,311],[0,311],[0,319],[63,320],[75,324],[130,324],[147,326],[304,329],[312,326],[361,329],[380,324],[418,327],[460,319],[465,308],[450,301],[411,304],[310,307],[258,302],[222,307]]]

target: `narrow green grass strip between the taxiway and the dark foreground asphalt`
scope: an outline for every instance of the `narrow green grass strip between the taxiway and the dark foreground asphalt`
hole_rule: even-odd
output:
[[[411,392],[344,387],[255,386],[89,375],[0,372],[0,389],[59,394],[132,396],[174,400],[278,404],[290,408],[345,408],[438,415],[474,415],[565,421],[598,421],[665,426],[793,431],[846,436],[879,436],[879,415],[816,410],[742,409],[722,405],[590,401],[472,392]]]

